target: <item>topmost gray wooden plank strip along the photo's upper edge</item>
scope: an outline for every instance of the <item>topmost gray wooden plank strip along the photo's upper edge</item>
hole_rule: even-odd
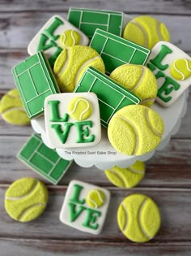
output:
[[[56,0],[49,2],[43,1],[27,1],[27,0],[2,0],[0,2],[1,11],[68,11],[70,7],[91,8],[102,10],[118,10],[125,13],[163,13],[163,14],[180,14],[190,15],[191,2],[181,0],[110,0],[110,1],[88,1],[88,0]]]

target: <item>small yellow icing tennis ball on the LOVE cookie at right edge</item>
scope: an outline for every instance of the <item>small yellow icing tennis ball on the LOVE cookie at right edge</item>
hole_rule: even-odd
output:
[[[176,59],[170,66],[170,72],[177,80],[186,80],[191,76],[191,60]]]

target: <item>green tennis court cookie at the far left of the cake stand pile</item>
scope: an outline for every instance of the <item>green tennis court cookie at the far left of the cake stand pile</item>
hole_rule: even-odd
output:
[[[44,113],[45,98],[59,93],[57,82],[43,52],[38,52],[12,69],[25,111],[30,119]]]

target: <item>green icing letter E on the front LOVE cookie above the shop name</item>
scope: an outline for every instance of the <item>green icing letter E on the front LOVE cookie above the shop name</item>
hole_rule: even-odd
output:
[[[77,143],[85,143],[85,142],[92,142],[95,140],[95,135],[91,134],[90,137],[90,131],[88,127],[92,127],[92,122],[91,121],[83,121],[83,122],[76,122],[74,123],[74,126],[77,128],[77,133],[78,133],[78,138],[77,138]],[[83,126],[86,126],[83,129]],[[87,138],[84,138],[87,137]]]

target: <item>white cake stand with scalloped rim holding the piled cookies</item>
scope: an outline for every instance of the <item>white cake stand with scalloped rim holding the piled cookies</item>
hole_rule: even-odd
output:
[[[164,133],[162,141],[158,147],[148,154],[143,154],[142,156],[127,156],[118,153],[112,148],[112,145],[108,141],[107,129],[105,128],[102,128],[102,139],[99,144],[83,148],[56,149],[57,154],[67,160],[74,160],[74,162],[81,167],[92,167],[95,165],[102,170],[111,168],[114,165],[119,167],[129,167],[137,160],[145,162],[155,154],[156,150],[163,150],[163,148],[168,145],[172,135],[178,132],[181,118],[186,113],[188,95],[189,92],[187,90],[171,107],[168,108],[159,106],[158,103],[154,103],[153,106],[151,106],[151,108],[158,112],[163,118]],[[32,119],[32,128],[35,132],[41,135],[45,145],[51,148],[45,131],[44,116]]]

